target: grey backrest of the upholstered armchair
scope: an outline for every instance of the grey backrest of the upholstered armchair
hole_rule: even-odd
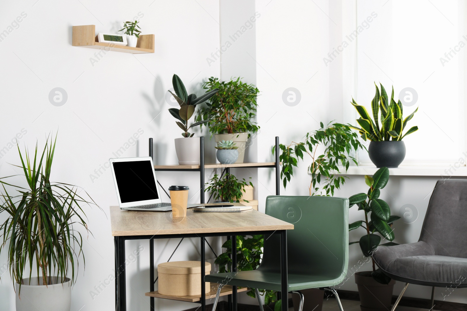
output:
[[[467,258],[467,180],[438,180],[428,203],[419,241],[436,255]]]

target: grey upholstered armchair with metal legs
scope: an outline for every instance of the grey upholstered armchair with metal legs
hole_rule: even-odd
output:
[[[467,180],[438,180],[416,243],[380,247],[374,254],[378,267],[405,286],[410,284],[467,287]]]

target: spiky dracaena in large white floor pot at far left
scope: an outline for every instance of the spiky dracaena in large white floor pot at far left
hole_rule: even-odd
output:
[[[78,257],[85,262],[78,229],[90,233],[83,207],[95,203],[87,194],[89,199],[80,196],[76,186],[50,180],[56,141],[57,137],[53,144],[46,142],[42,154],[37,144],[32,155],[18,147],[17,167],[27,186],[14,186],[7,177],[0,180],[0,215],[6,217],[0,224],[0,252],[7,252],[17,311],[36,310],[35,306],[70,311]],[[11,187],[19,194],[12,194]]]

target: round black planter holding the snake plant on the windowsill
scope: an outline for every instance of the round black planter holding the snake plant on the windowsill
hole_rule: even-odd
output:
[[[372,141],[368,155],[376,167],[397,167],[405,158],[405,144],[402,140]]]

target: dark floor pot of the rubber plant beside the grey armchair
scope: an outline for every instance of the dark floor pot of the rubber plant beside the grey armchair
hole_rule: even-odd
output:
[[[360,295],[361,311],[387,311],[391,310],[392,291],[396,281],[389,284],[375,281],[371,272],[363,271],[355,273],[355,283]]]

